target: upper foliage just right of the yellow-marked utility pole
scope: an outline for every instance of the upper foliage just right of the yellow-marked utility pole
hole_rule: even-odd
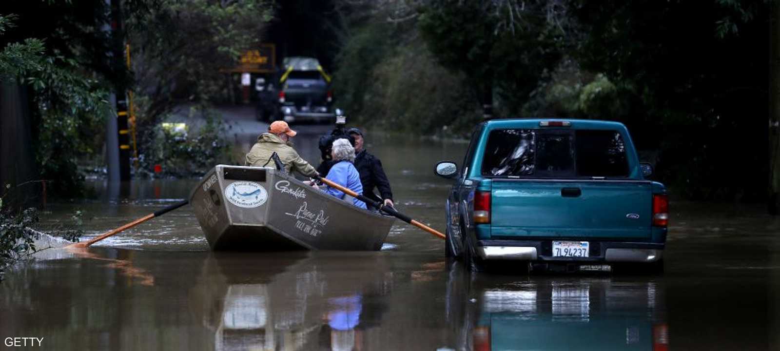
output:
[[[183,101],[225,99],[229,75],[222,71],[261,42],[272,14],[266,0],[157,0],[130,12],[134,90],[147,99],[138,106],[140,132],[155,128]]]

